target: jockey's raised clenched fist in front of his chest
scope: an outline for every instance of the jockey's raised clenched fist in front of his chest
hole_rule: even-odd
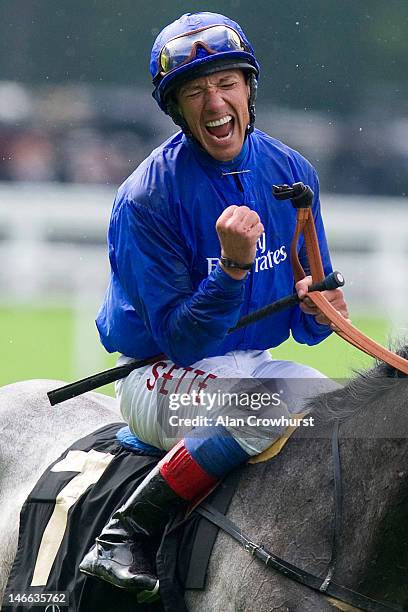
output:
[[[248,206],[228,206],[215,225],[221,245],[221,255],[238,263],[252,263],[256,243],[264,231],[258,213]],[[222,265],[222,264],[221,264]],[[224,268],[232,278],[244,278],[245,270]]]

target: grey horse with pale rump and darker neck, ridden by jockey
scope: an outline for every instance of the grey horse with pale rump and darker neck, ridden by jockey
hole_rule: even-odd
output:
[[[407,351],[404,352],[405,356]],[[116,400],[97,393],[51,408],[56,381],[0,389],[0,593],[15,554],[20,507],[42,471],[74,440],[117,422]],[[385,365],[310,401],[313,435],[296,432],[271,461],[244,470],[228,516],[276,555],[322,577],[333,530],[331,429],[341,422],[343,520],[334,580],[408,609],[408,379]],[[207,589],[192,612],[353,610],[293,582],[219,534]]]

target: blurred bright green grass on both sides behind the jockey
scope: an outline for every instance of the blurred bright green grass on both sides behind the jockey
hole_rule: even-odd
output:
[[[387,344],[384,320],[354,318],[369,336]],[[74,368],[74,313],[67,308],[0,308],[0,385],[31,378],[72,381],[115,365],[116,356],[107,355],[99,345],[92,316],[89,318],[89,361],[82,370]],[[343,378],[353,370],[367,367],[371,360],[333,334],[323,343],[309,347],[288,340],[272,352],[275,358],[307,363],[326,375]],[[112,386],[102,389],[112,394]]]

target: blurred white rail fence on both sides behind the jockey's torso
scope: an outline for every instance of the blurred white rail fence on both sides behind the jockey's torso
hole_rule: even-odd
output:
[[[0,303],[73,307],[77,372],[101,359],[89,354],[97,346],[90,322],[109,274],[113,197],[103,186],[0,184]],[[394,334],[407,335],[407,199],[323,195],[322,208],[352,314],[386,317]]]

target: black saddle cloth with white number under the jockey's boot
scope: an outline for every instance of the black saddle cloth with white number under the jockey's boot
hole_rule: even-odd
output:
[[[161,540],[152,540],[160,602],[138,604],[135,595],[79,572],[80,561],[112,513],[159,461],[124,449],[115,438],[121,427],[123,423],[108,425],[78,440],[30,493],[21,510],[4,612],[38,612],[47,603],[57,603],[65,612],[184,612],[185,588],[204,587],[217,528],[195,513],[187,520],[173,517]],[[226,511],[236,482],[234,474],[209,498],[220,511]],[[65,598],[58,595],[62,593]],[[47,603],[39,608],[40,601]]]

